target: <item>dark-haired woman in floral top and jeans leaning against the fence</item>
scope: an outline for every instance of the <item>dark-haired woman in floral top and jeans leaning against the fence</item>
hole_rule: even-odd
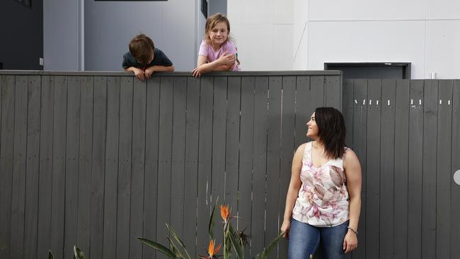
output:
[[[294,154],[281,231],[291,259],[309,258],[320,239],[324,258],[345,258],[357,247],[360,161],[345,147],[345,122],[335,108],[316,108],[306,126],[313,141]]]

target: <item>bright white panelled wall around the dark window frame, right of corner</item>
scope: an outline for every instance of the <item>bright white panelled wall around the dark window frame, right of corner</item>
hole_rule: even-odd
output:
[[[460,78],[458,0],[309,0],[306,8],[306,64],[294,68],[411,62],[412,79]]]

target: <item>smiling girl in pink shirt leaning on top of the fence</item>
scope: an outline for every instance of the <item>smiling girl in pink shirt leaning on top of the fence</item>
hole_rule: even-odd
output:
[[[216,13],[206,20],[205,40],[198,52],[195,77],[209,71],[238,71],[239,61],[236,46],[229,36],[230,23],[226,16]]]

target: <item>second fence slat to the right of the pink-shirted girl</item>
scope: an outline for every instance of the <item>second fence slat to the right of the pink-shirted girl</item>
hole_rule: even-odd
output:
[[[267,175],[267,96],[268,77],[255,78],[253,137],[253,204],[251,214],[251,254],[261,253],[265,234],[265,176]]]

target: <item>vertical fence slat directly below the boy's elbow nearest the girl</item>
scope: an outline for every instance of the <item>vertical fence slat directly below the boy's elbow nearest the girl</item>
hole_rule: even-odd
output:
[[[159,166],[156,196],[156,241],[168,247],[166,223],[171,223],[171,150],[173,144],[173,88],[171,77],[160,79]],[[156,258],[164,258],[156,253]]]

